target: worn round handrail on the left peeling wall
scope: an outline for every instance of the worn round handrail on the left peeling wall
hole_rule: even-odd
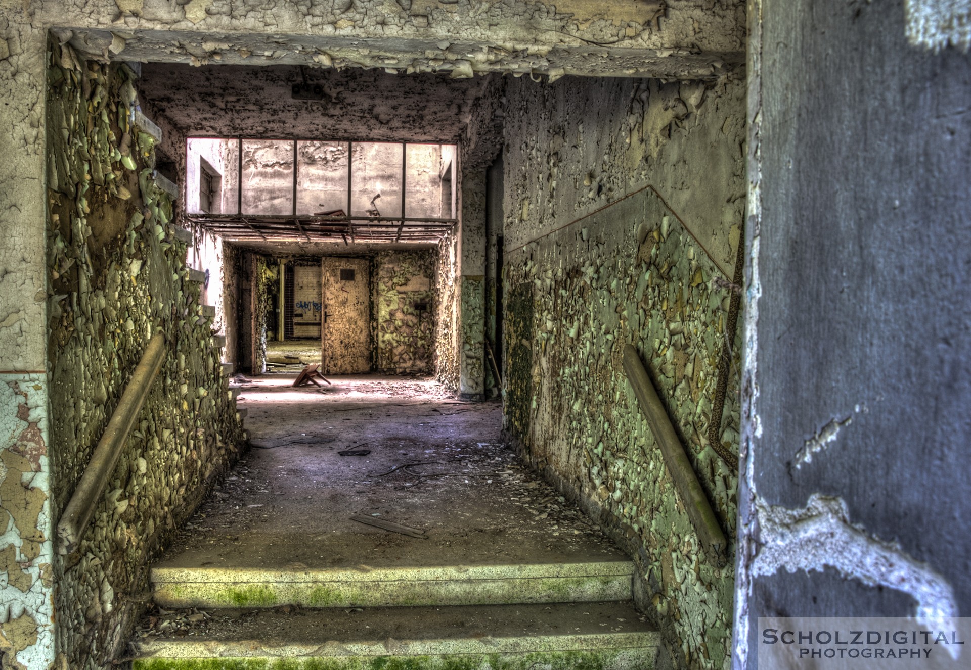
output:
[[[164,360],[165,335],[158,333],[151,338],[142,360],[132,372],[128,386],[125,387],[115,412],[108,421],[108,427],[102,433],[98,446],[94,448],[91,460],[84,468],[81,481],[78,482],[78,487],[71,495],[71,500],[57,523],[59,554],[70,554],[81,543],[84,530],[91,522],[98,502],[105,493],[105,487],[115,471],[118,458],[128,443],[128,433],[135,425],[145,399],[149,397],[151,383]]]

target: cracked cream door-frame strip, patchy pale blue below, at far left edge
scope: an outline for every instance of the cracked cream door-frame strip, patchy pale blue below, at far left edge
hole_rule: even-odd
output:
[[[0,655],[54,660],[48,458],[45,48],[26,5],[0,3]],[[6,655],[5,655],[6,654]]]

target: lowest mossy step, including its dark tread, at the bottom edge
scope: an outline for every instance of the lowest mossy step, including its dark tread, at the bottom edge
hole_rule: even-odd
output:
[[[629,602],[169,616],[133,670],[651,670],[660,644]]]

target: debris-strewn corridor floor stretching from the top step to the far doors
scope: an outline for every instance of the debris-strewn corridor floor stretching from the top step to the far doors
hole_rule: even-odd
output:
[[[251,452],[200,507],[162,565],[306,567],[624,560],[499,440],[501,405],[434,381],[293,375],[243,386]],[[367,456],[340,456],[347,449]],[[352,521],[367,515],[427,539]]]

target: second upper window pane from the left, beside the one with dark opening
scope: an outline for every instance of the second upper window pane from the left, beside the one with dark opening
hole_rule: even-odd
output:
[[[243,141],[243,213],[293,213],[293,143]]]

